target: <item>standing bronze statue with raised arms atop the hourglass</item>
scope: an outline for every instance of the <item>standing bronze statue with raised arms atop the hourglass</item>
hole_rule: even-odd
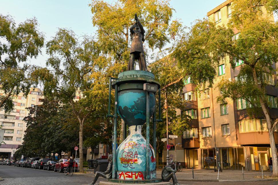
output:
[[[130,58],[128,61],[128,70],[134,70],[134,61],[139,61],[139,69],[147,71],[146,57],[143,49],[143,42],[145,41],[145,30],[140,23],[137,14],[135,13],[135,23],[130,27],[130,37],[132,40],[130,48]],[[134,29],[135,28],[135,29]]]

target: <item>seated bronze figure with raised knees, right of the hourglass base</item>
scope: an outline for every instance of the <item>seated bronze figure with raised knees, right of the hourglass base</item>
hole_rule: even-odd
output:
[[[161,173],[162,181],[168,182],[172,178],[173,184],[180,185],[175,175],[176,172],[177,172],[176,164],[174,163],[173,160],[169,160],[168,165],[166,165],[162,170]]]

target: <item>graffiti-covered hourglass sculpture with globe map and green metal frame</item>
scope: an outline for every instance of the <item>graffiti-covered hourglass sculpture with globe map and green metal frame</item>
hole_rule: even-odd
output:
[[[111,85],[115,88],[115,113],[128,125],[129,135],[115,149],[117,114],[114,118],[113,173],[110,182],[146,183],[161,182],[156,178],[155,93],[160,84],[154,74],[142,70],[122,72]],[[160,92],[160,91],[159,91]],[[110,100],[110,99],[109,99]],[[159,107],[160,110],[160,107]],[[150,145],[150,118],[154,123],[153,145]],[[160,120],[157,120],[160,121]],[[146,139],[142,126],[146,123]],[[116,151],[115,151],[116,150]],[[144,182],[142,182],[144,181]]]

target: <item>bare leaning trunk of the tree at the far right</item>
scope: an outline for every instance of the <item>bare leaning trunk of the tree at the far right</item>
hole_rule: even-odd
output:
[[[257,88],[259,88],[258,78],[257,78],[255,68],[252,69],[252,73],[253,73],[253,79],[254,79],[255,85],[257,86]],[[278,177],[278,159],[277,159],[277,150],[276,150],[276,145],[275,145],[275,140],[274,140],[274,135],[273,135],[273,127],[272,127],[273,121],[269,115],[267,103],[263,100],[262,97],[259,97],[259,100],[260,100],[261,107],[263,109],[263,113],[265,115],[265,119],[267,121],[269,144],[270,144],[270,148],[271,148],[272,164],[273,164],[272,178],[274,178],[274,177]]]

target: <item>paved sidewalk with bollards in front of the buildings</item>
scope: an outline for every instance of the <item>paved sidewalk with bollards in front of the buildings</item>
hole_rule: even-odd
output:
[[[86,174],[80,174],[85,176],[94,177],[94,169],[85,169]],[[162,170],[156,171],[156,177],[161,178]],[[196,182],[241,182],[241,181],[267,181],[278,180],[271,179],[271,172],[263,172],[264,178],[262,179],[262,172],[244,171],[244,179],[242,171],[240,170],[223,170],[219,172],[219,179],[217,179],[218,172],[214,170],[194,170],[194,179],[192,178],[191,169],[183,169],[182,172],[177,172],[176,176],[178,181],[196,181]],[[270,176],[270,177],[269,177]],[[104,178],[103,178],[104,179]]]

